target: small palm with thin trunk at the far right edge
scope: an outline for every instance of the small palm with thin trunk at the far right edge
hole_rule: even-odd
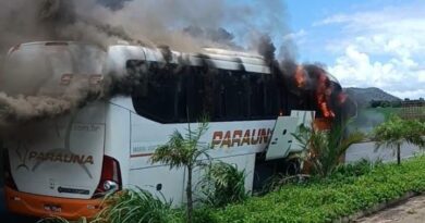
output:
[[[399,116],[391,116],[385,123],[375,127],[373,138],[376,140],[376,149],[396,149],[397,163],[401,163],[401,145],[403,143],[425,147],[425,125],[418,121],[405,121]]]

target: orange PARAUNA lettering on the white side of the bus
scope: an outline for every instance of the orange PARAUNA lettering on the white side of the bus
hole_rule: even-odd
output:
[[[271,138],[270,128],[258,129],[238,129],[238,131],[217,131],[212,134],[212,148],[231,148],[250,145],[268,144]]]

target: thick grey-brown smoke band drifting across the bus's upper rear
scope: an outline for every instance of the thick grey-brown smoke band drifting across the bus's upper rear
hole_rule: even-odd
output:
[[[65,114],[105,97],[105,86],[93,84],[87,76],[71,78],[60,90],[41,87],[31,95],[0,92],[0,128]]]

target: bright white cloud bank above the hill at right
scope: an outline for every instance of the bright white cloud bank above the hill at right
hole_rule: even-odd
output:
[[[379,87],[398,97],[425,97],[423,5],[336,14],[313,24],[337,26],[326,49],[336,55],[329,71],[344,86]]]

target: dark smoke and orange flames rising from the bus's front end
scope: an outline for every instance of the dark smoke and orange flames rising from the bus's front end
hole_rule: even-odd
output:
[[[321,63],[299,64],[294,60],[291,46],[283,46],[284,54],[279,62],[276,57],[276,47],[268,35],[256,35],[252,38],[253,46],[257,47],[257,52],[263,55],[271,73],[280,74],[283,77],[284,94],[296,96],[302,109],[317,110],[319,116],[333,119],[337,115],[342,117],[341,110],[344,102],[342,88],[338,83],[331,82],[326,66]],[[337,101],[337,102],[336,102]]]

